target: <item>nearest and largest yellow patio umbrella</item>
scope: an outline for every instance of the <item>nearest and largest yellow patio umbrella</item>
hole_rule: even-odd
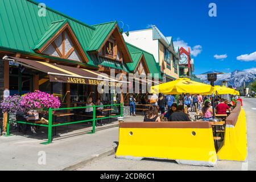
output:
[[[213,90],[214,88],[211,85],[191,81],[188,78],[179,78],[175,81],[170,81],[164,84],[151,87],[151,93],[163,94],[203,94],[213,93]]]

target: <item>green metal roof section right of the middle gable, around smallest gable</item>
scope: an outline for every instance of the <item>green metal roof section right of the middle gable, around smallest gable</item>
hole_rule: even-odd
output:
[[[136,66],[138,65],[138,61],[141,58],[141,55],[145,57],[147,67],[152,73],[152,77],[154,77],[155,73],[158,73],[159,79],[162,80],[162,75],[160,74],[160,66],[156,63],[154,56],[151,53],[148,53],[138,47],[133,46],[132,44],[126,43],[127,49],[130,52],[130,55],[133,59],[133,63],[126,63],[127,67],[130,71],[134,71]]]

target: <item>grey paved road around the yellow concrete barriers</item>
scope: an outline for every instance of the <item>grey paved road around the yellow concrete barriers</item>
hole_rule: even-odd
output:
[[[197,167],[163,160],[121,160],[115,159],[114,155],[111,155],[89,163],[79,170],[256,170],[256,99],[245,98],[243,102],[247,118],[247,142],[249,145],[249,155],[246,163],[218,161],[216,167]]]

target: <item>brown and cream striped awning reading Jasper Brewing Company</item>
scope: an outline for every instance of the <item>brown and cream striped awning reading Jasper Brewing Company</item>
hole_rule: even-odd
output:
[[[85,85],[106,85],[121,87],[122,84],[129,82],[115,80],[109,76],[102,75],[101,72],[90,71],[88,69],[68,67],[60,64],[46,63],[43,61],[27,60],[18,57],[9,57],[9,60],[15,61],[27,68],[36,69],[49,75],[51,82],[65,82],[70,84]]]

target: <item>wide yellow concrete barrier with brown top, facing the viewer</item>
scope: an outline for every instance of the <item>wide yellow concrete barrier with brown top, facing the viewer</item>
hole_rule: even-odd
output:
[[[176,160],[214,166],[217,154],[209,122],[124,122],[119,125],[116,158]]]

